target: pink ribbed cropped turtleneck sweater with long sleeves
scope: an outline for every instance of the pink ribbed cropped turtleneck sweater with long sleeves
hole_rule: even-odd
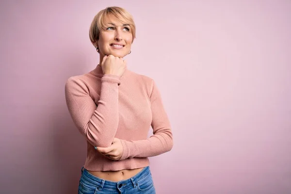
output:
[[[170,151],[171,125],[153,79],[128,69],[119,77],[103,75],[101,66],[84,75],[70,77],[65,84],[69,113],[87,141],[84,168],[117,171],[149,165],[148,157]],[[150,126],[153,135],[147,138]],[[94,146],[111,146],[121,139],[119,161],[101,155]]]

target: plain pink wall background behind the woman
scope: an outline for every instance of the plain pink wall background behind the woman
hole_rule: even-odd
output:
[[[64,86],[98,64],[89,26],[114,5],[173,126],[150,158],[157,193],[290,194],[289,0],[1,1],[0,193],[77,194],[86,146]]]

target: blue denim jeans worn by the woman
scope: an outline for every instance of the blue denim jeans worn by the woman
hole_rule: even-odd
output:
[[[82,168],[79,194],[156,194],[149,166],[127,180],[113,182],[97,178]]]

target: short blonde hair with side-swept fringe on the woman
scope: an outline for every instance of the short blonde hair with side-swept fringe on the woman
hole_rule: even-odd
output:
[[[135,38],[135,24],[133,21],[133,17],[131,16],[131,14],[129,14],[128,11],[121,7],[107,7],[101,10],[94,17],[89,30],[91,42],[95,43],[99,39],[100,32],[105,30],[105,19],[108,18],[110,15],[115,16],[122,23],[129,24],[133,42]]]

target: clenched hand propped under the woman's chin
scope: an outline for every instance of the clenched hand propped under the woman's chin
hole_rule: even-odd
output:
[[[105,55],[102,59],[101,67],[104,74],[112,74],[122,76],[127,66],[127,62],[123,58],[114,57],[113,55]]]

